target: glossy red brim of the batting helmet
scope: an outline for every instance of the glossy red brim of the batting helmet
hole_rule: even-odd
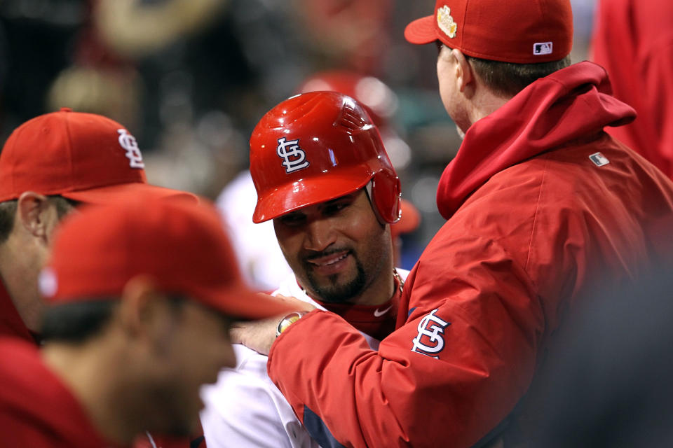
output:
[[[262,223],[303,207],[348,195],[367,185],[372,176],[373,173],[357,167],[350,172],[341,171],[339,174],[288,183],[257,200],[252,221]]]

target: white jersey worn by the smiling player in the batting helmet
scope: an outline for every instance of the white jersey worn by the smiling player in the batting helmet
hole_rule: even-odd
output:
[[[397,269],[397,273],[404,280],[409,271]],[[292,295],[325,309],[306,295],[294,275],[287,277],[274,294]],[[378,340],[363,336],[372,349],[379,348]],[[268,358],[240,344],[233,348],[236,367],[222,370],[217,383],[201,388],[205,407],[200,419],[208,448],[319,447],[266,374]]]

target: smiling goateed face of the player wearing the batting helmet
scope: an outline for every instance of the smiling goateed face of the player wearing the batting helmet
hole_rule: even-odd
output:
[[[390,260],[390,229],[365,190],[285,214],[273,226],[301,286],[324,302],[352,302]]]

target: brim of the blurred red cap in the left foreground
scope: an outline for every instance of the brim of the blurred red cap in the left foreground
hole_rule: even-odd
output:
[[[254,293],[239,283],[222,290],[205,291],[203,303],[238,320],[257,320],[297,311],[282,299],[264,293]]]

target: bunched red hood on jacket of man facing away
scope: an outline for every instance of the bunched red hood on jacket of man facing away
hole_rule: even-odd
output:
[[[442,173],[437,208],[449,219],[503,169],[635,117],[631,106],[611,96],[608,75],[597,64],[580,62],[540,78],[470,126]]]

